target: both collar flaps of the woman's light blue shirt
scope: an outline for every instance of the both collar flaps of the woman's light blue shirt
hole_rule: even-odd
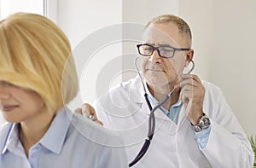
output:
[[[49,149],[53,153],[60,154],[61,148],[66,140],[67,130],[72,118],[73,113],[67,107],[63,107],[56,113],[49,129],[38,143],[42,144],[44,148]],[[18,146],[20,142],[18,126],[19,124],[11,125],[7,134],[7,140],[3,145],[2,154],[4,154],[7,149],[11,149],[12,146]]]

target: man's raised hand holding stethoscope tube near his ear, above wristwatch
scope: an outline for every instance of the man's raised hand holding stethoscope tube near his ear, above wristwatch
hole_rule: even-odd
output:
[[[183,74],[183,80],[177,84],[181,88],[179,99],[183,101],[192,125],[197,125],[203,115],[205,88],[200,78],[193,74]]]

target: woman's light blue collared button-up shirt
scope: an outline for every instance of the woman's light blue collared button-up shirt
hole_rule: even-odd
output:
[[[128,167],[122,141],[109,130],[64,107],[26,157],[19,124],[0,127],[1,168]]]

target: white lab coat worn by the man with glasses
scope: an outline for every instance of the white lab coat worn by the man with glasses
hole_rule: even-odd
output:
[[[221,90],[211,83],[203,81],[203,84],[206,89],[203,111],[212,125],[206,148],[199,147],[184,107],[177,125],[157,110],[151,145],[133,167],[253,167],[251,145]],[[96,114],[104,126],[123,136],[129,160],[136,157],[147,136],[149,110],[143,95],[137,77],[117,85],[95,102]]]

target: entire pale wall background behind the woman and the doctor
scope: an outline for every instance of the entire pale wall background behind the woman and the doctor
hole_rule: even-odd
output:
[[[132,37],[140,36],[148,20],[159,14],[181,16],[192,29],[194,73],[223,90],[247,136],[256,135],[255,9],[255,0],[0,0],[1,19],[17,11],[44,14],[67,34],[76,64],[84,55],[78,65],[79,96],[69,105],[73,109],[92,103],[104,85],[108,89],[136,75],[133,59],[140,37]],[[132,32],[134,26],[123,23],[137,28]],[[94,50],[86,50],[100,41]],[[97,83],[102,67],[113,60],[114,77]]]

